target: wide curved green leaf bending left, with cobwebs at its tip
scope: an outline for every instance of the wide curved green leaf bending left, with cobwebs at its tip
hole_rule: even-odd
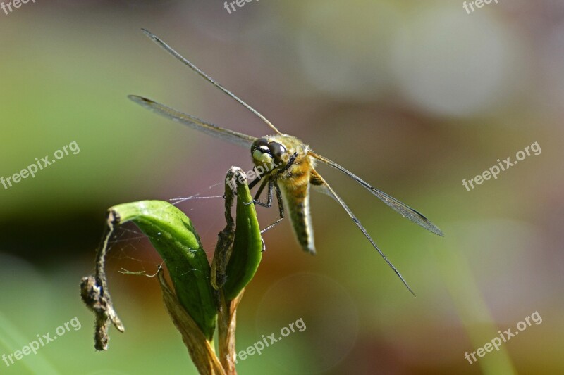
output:
[[[190,219],[165,201],[123,203],[109,212],[114,224],[131,221],[149,238],[166,263],[180,304],[211,341],[217,317],[211,269]]]

